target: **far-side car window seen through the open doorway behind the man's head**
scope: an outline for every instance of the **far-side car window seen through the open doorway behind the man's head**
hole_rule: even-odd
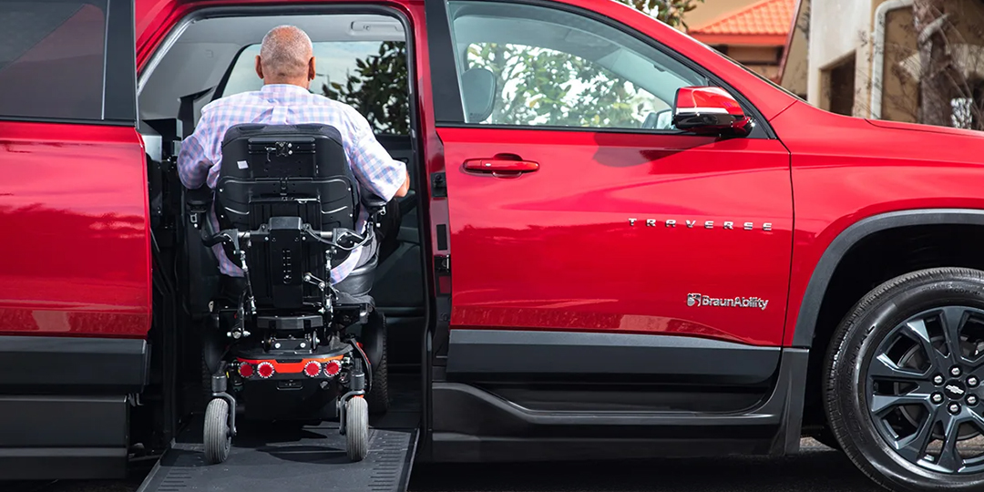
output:
[[[317,76],[311,92],[353,106],[378,134],[409,135],[409,81],[404,41],[314,42]],[[247,46],[233,62],[222,96],[259,91],[260,45]]]

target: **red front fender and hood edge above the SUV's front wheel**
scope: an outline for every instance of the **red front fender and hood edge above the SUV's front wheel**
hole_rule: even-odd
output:
[[[984,133],[870,122],[803,102],[771,123],[792,153],[796,197],[785,344],[817,263],[851,224],[892,211],[984,209]]]

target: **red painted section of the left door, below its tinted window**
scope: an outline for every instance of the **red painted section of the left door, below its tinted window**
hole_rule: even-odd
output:
[[[147,336],[144,155],[132,127],[0,122],[0,335]]]

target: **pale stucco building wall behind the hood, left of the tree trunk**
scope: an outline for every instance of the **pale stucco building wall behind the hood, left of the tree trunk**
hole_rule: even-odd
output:
[[[868,72],[872,13],[882,0],[813,0],[810,11],[807,100],[821,102],[821,71],[856,52],[858,78],[855,90],[867,92],[862,84]]]

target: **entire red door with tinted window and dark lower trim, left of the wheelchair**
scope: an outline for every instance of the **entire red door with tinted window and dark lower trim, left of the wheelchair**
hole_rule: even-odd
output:
[[[0,451],[23,459],[5,477],[125,464],[151,320],[135,80],[132,0],[0,2]]]

